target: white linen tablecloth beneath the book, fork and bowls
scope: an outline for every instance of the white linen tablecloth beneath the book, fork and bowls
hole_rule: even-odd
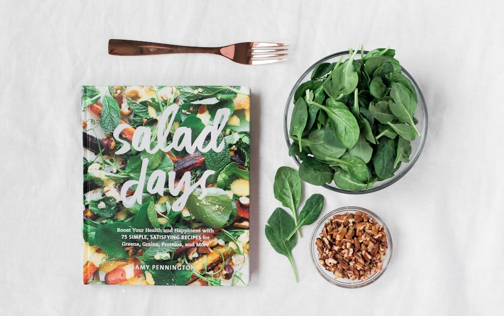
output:
[[[2,1],[0,241],[3,315],[488,315],[504,308],[499,1]],[[220,46],[290,43],[290,59],[244,66],[214,55],[121,57],[110,38]],[[287,259],[264,227],[287,155],[283,110],[311,64],[331,53],[390,46],[423,91],[427,143],[399,182],[366,195],[304,184],[323,213],[355,205],[394,238],[380,280],[349,290],[308,255],[314,225]],[[82,285],[82,85],[244,85],[252,91],[251,280],[248,287]]]

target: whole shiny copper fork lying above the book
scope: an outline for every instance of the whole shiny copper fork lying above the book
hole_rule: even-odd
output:
[[[287,45],[289,44],[245,42],[223,47],[193,47],[132,41],[125,39],[110,39],[108,41],[108,53],[111,55],[122,56],[174,53],[210,53],[224,56],[235,62],[238,62],[239,64],[264,65],[271,64],[272,62],[286,60],[287,58],[278,57],[287,55],[287,48],[283,48]]]

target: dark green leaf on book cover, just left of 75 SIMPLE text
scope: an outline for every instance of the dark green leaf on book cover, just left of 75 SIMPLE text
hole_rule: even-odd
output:
[[[131,226],[122,222],[98,226],[95,232],[96,245],[111,257],[128,258],[128,252],[121,246],[123,241],[129,240],[121,238],[121,234],[126,231],[131,231]]]

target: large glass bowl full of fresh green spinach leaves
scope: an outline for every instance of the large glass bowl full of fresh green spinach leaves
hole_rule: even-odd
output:
[[[363,194],[402,178],[427,135],[423,95],[380,48],[329,55],[304,72],[287,99],[284,132],[302,180]]]

